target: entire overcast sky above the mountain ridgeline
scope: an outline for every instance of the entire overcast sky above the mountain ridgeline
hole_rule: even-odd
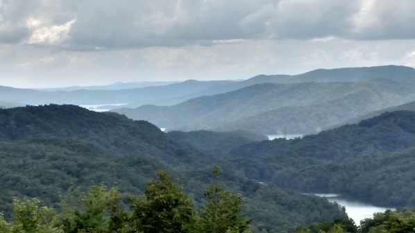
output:
[[[0,0],[0,85],[415,67],[414,0]]]

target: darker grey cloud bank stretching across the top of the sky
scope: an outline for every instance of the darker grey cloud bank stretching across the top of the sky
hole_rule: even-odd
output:
[[[99,50],[214,40],[409,39],[413,12],[412,0],[1,0],[0,42]]]

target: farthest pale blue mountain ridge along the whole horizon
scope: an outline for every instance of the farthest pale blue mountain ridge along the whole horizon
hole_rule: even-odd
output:
[[[131,83],[116,83],[103,87],[68,87],[67,89],[16,89],[0,87],[0,101],[18,102],[24,105],[57,104],[119,104],[129,107],[141,105],[175,105],[190,98],[212,96],[260,83],[304,83],[304,82],[365,82],[373,79],[387,79],[398,83],[414,83],[415,70],[412,67],[382,66],[341,69],[319,69],[294,76],[255,76],[248,80],[196,81],[187,80],[151,87],[135,87]],[[148,83],[147,85],[153,85]],[[167,84],[167,83],[166,83]],[[143,84],[145,85],[145,84]]]

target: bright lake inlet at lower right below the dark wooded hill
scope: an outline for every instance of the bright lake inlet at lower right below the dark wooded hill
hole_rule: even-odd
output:
[[[385,212],[387,209],[396,210],[393,208],[376,207],[357,200],[343,198],[334,193],[315,193],[315,195],[325,197],[330,202],[337,202],[339,205],[344,206],[346,208],[346,213],[353,221],[355,221],[356,225],[360,225],[360,221],[364,218],[373,217],[373,214],[375,213]]]

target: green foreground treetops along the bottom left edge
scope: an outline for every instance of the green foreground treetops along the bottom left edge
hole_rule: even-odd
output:
[[[207,195],[207,207],[196,215],[192,200],[160,171],[160,180],[147,184],[145,197],[128,196],[131,210],[115,188],[92,186],[84,193],[72,189],[62,197],[62,212],[40,207],[37,199],[15,198],[14,221],[0,215],[2,233],[158,233],[158,232],[248,232],[249,221],[242,215],[242,199],[215,185],[214,198]],[[212,186],[213,187],[213,186]],[[218,189],[216,189],[218,188]],[[209,192],[212,189],[207,189]],[[212,206],[213,205],[213,206]],[[209,221],[208,224],[205,221]],[[213,227],[213,228],[211,228]],[[216,229],[211,231],[211,229]]]

